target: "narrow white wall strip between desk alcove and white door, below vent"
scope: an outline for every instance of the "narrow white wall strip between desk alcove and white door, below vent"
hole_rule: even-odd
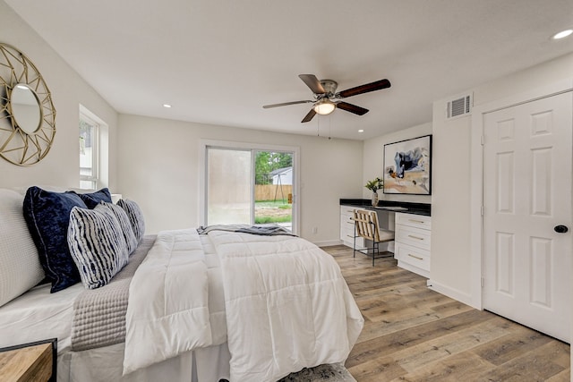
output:
[[[431,279],[440,291],[471,301],[470,121],[444,121],[434,105]]]

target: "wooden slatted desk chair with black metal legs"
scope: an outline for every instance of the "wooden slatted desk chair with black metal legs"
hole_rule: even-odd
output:
[[[363,253],[366,256],[370,256],[368,253],[368,248],[364,250],[356,250],[356,237],[363,237],[366,240],[372,242],[372,267],[374,267],[374,259],[385,258],[388,256],[378,256],[379,244],[381,242],[391,242],[394,240],[394,231],[389,231],[382,229],[378,223],[378,214],[376,211],[368,211],[365,209],[355,209],[355,245],[353,248],[352,257],[356,255],[356,251]]]

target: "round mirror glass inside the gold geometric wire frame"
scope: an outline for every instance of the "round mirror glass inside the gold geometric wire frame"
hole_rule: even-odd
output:
[[[19,83],[12,90],[10,103],[12,117],[21,130],[28,134],[38,131],[42,110],[36,92],[25,83]]]

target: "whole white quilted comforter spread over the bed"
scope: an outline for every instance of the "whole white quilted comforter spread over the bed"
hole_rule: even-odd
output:
[[[221,330],[232,381],[276,381],[346,360],[363,318],[329,254],[293,236],[209,237],[222,270],[227,328],[209,310],[216,286],[199,235],[159,233],[130,287],[124,372],[215,344]]]

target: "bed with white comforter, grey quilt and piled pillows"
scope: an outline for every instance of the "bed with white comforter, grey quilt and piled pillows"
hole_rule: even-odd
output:
[[[73,214],[107,204],[99,197]],[[276,381],[345,361],[362,330],[334,259],[259,227],[144,235],[130,220],[140,237],[105,284],[88,289],[82,278],[51,293],[24,199],[0,190],[0,347],[57,338],[58,381]]]

